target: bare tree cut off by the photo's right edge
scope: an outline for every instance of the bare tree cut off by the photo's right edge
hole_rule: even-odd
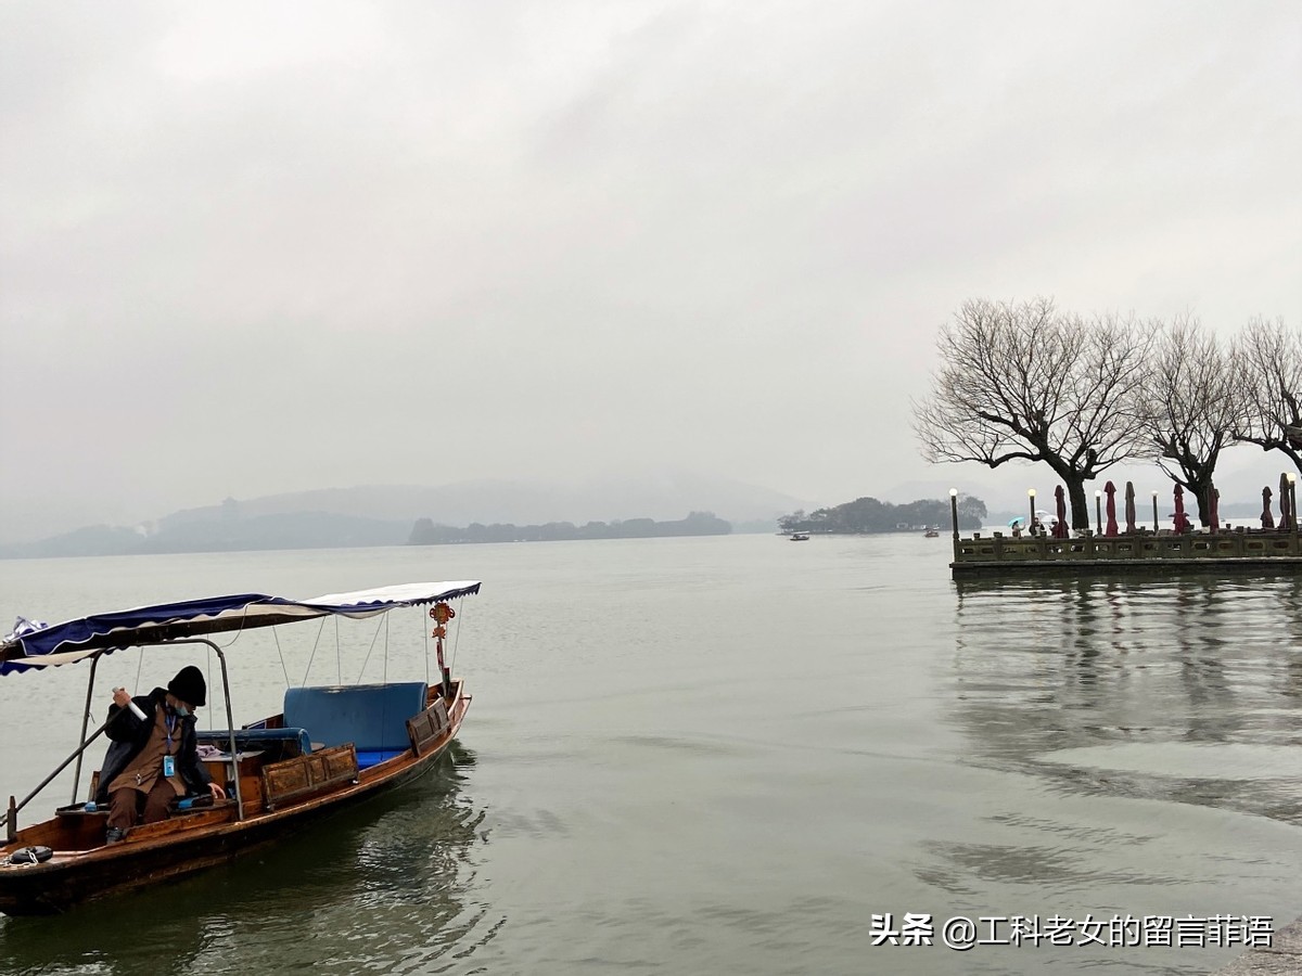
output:
[[[1281,450],[1302,471],[1302,331],[1253,319],[1234,344],[1234,363],[1246,397],[1234,440]]]

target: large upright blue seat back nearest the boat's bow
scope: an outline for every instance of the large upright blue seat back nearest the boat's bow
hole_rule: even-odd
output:
[[[352,742],[361,765],[363,752],[397,755],[411,747],[406,720],[424,711],[424,699],[423,681],[286,688],[285,725],[323,746]]]

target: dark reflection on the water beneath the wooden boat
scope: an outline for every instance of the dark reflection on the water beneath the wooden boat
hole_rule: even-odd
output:
[[[461,799],[475,756],[229,865],[65,916],[5,919],[0,972],[439,972],[501,919],[466,897],[483,811]]]

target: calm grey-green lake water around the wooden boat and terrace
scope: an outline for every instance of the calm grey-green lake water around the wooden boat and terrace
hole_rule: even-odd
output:
[[[484,582],[454,631],[474,704],[439,769],[195,878],[0,917],[0,972],[1190,973],[1241,946],[1154,945],[1161,923],[1109,945],[1111,920],[1302,914],[1302,580],[960,588],[948,558],[892,535],[0,562],[4,630]],[[427,623],[240,638],[236,721],[280,711],[286,677],[355,679],[368,648],[368,681],[423,677]],[[113,655],[95,716],[190,661],[208,666]],[[87,673],[0,679],[5,796],[76,747]],[[874,915],[906,912],[934,945],[874,945]],[[956,951],[953,916],[1057,916],[1072,943]],[[1082,946],[1091,920],[1104,943]]]

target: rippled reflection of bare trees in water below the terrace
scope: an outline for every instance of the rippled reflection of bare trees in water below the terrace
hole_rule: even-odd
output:
[[[980,763],[1086,794],[1302,822],[1299,769],[1281,761],[1290,755],[1281,747],[1298,739],[1302,580],[1190,575],[956,590],[954,717]],[[1181,744],[1202,752],[1164,768]],[[1271,763],[1280,765],[1273,778],[1263,776]]]

